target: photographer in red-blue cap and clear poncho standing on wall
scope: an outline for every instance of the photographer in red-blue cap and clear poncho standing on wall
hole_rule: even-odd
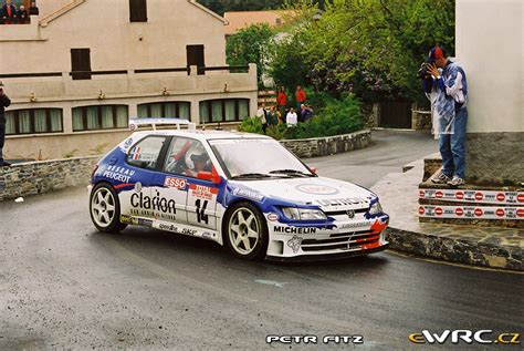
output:
[[[419,70],[431,101],[433,130],[439,135],[442,172],[431,182],[464,185],[468,83],[462,68],[448,59],[446,50],[433,48]]]

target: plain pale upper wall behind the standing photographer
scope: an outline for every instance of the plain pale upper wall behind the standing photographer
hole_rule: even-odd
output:
[[[523,11],[522,0],[457,1],[469,132],[524,132]]]

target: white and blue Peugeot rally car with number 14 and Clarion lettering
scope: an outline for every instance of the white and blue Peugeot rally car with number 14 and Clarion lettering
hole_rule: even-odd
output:
[[[245,259],[339,258],[388,246],[377,195],[317,176],[258,134],[136,131],[97,163],[90,213],[101,231],[147,226],[217,241]]]

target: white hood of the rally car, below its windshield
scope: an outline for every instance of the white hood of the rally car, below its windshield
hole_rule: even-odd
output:
[[[358,185],[325,177],[235,180],[230,184],[273,199],[297,205],[318,205],[323,210],[329,211],[368,207],[370,200],[377,197]]]

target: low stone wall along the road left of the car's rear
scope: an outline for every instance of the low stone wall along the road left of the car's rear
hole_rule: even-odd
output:
[[[0,200],[87,185],[101,156],[15,164],[0,168]]]

